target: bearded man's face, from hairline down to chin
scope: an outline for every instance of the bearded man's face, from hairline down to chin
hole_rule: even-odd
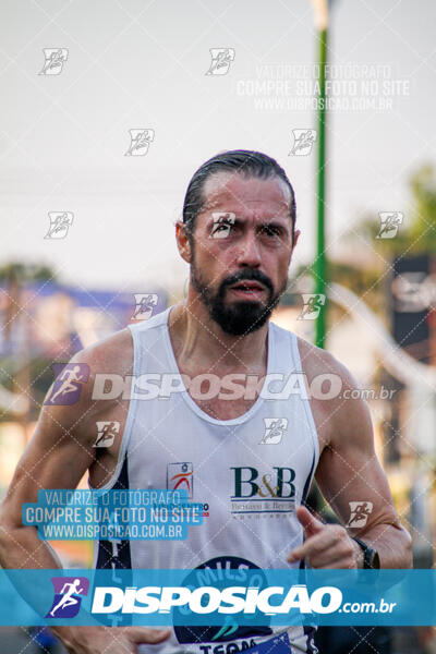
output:
[[[217,173],[195,221],[191,282],[223,331],[262,327],[284,291],[292,254],[290,194],[279,178]]]

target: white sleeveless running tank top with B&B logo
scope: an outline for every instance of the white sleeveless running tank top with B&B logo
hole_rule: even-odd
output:
[[[170,311],[130,326],[136,392],[116,471],[104,488],[184,488],[189,501],[204,505],[203,524],[189,526],[183,541],[100,541],[95,543],[95,567],[205,568],[211,576],[214,570],[299,567],[286,558],[303,541],[294,509],[308,492],[319,450],[304,393],[277,399],[290,376],[291,386],[302,379],[295,335],[269,323],[270,380],[246,413],[221,421],[205,413],[184,386],[167,398],[138,399],[145,389],[141,375],[180,375],[168,329]],[[283,631],[292,651],[316,651],[311,628],[239,627],[228,629],[227,637],[219,631],[175,627],[168,641],[141,651],[237,654]]]

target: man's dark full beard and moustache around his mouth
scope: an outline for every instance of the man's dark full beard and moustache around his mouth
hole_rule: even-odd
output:
[[[232,302],[225,304],[226,290],[242,280],[258,281],[263,283],[268,291],[266,305],[255,300]],[[199,293],[202,301],[209,311],[213,320],[218,323],[226,334],[232,336],[243,336],[259,329],[269,319],[272,310],[280,302],[281,294],[287,287],[287,280],[280,291],[275,294],[272,283],[269,277],[256,269],[245,268],[237,275],[227,277],[219,286],[216,294],[213,294],[207,284],[204,283],[199,270],[196,269],[194,263],[191,266],[191,281],[194,289]]]

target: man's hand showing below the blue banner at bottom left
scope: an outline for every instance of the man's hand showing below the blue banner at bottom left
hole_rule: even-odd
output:
[[[141,644],[169,638],[170,629],[148,627],[51,627],[69,654],[136,654]]]

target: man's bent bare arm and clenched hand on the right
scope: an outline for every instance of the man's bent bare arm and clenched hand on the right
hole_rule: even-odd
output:
[[[343,387],[355,389],[348,371],[340,367]],[[364,552],[353,540],[358,537],[376,550],[382,568],[411,568],[411,537],[400,523],[374,449],[367,404],[362,399],[338,399],[332,404],[331,437],[315,476],[344,526],[324,524],[305,507],[299,507],[296,516],[305,541],[288,560],[306,558],[313,568],[362,568]]]

